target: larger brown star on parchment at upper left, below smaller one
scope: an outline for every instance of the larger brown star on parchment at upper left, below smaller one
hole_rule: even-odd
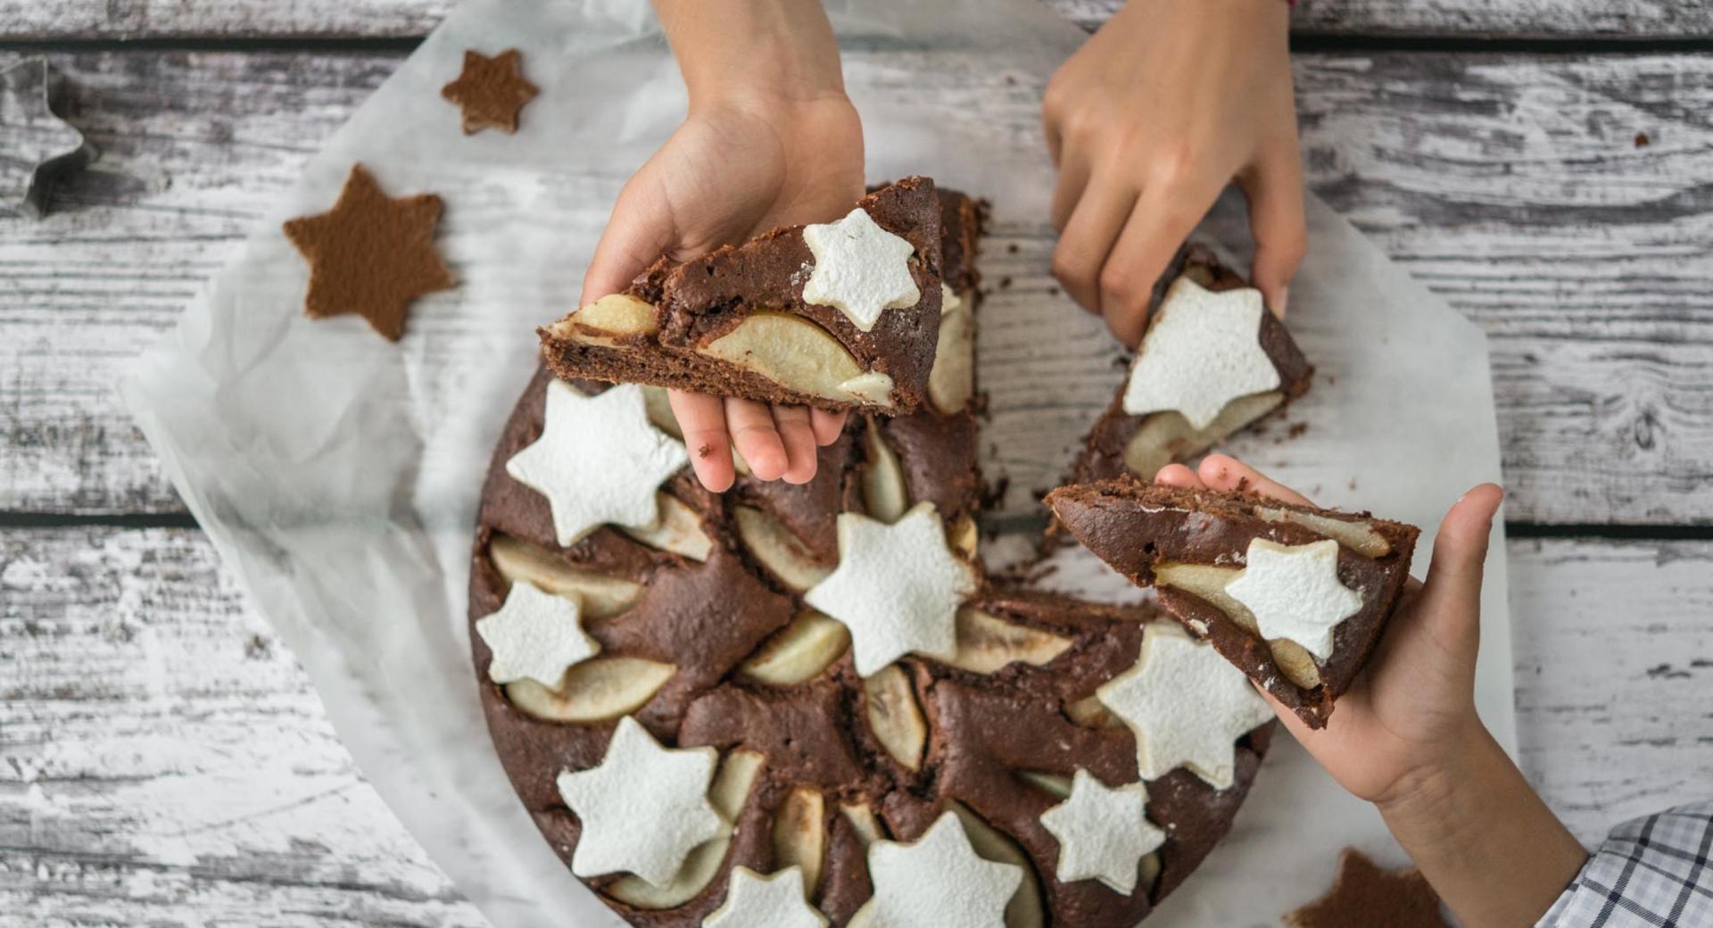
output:
[[[355,313],[387,341],[404,336],[411,300],[456,286],[433,250],[440,197],[387,197],[361,164],[329,212],[286,223],[286,238],[310,262],[310,318]]]

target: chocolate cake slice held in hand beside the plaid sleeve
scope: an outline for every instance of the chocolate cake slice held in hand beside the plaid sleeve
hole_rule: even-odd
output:
[[[1047,505],[1310,728],[1381,640],[1420,534],[1367,512],[1136,479],[1060,486]]]

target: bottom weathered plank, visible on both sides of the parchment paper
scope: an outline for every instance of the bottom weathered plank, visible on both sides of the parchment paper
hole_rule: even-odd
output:
[[[1713,543],[1509,553],[1530,777],[1585,841],[1696,798]],[[199,532],[0,531],[0,923],[480,925]]]

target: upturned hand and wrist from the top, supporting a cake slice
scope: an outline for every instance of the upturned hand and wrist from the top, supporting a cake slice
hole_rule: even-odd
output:
[[[814,0],[656,0],[689,89],[683,123],[625,183],[581,305],[654,259],[690,259],[774,226],[836,219],[863,193],[863,144],[838,45]],[[723,491],[731,454],[761,479],[807,483],[843,413],[671,394],[695,476]]]

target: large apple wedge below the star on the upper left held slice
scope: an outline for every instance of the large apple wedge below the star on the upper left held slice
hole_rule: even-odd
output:
[[[800,315],[750,313],[697,351],[798,394],[891,406],[891,378],[865,372],[838,339]]]

